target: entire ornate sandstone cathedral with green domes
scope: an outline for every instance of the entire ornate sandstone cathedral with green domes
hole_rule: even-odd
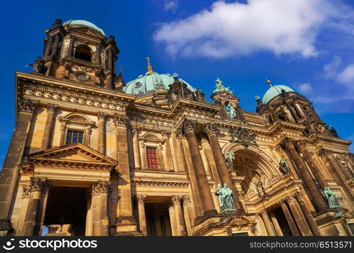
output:
[[[215,77],[211,103],[148,57],[125,82],[91,22],[45,32],[33,71],[15,73],[1,235],[354,234],[351,141],[301,94],[267,80],[250,112]]]

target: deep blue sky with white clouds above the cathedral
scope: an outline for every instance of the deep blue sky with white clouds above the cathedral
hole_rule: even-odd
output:
[[[86,19],[113,34],[124,79],[144,74],[145,57],[158,73],[179,73],[207,97],[216,77],[234,89],[241,107],[287,85],[313,101],[340,137],[354,140],[354,3],[349,0],[6,1],[2,4],[3,61],[0,163],[14,128],[14,71],[42,55],[44,30],[56,18]],[[353,148],[351,148],[354,151]]]

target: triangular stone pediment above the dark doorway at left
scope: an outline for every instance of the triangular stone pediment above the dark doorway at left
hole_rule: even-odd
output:
[[[55,160],[85,163],[117,164],[117,161],[87,147],[81,143],[73,143],[29,154],[30,160]]]

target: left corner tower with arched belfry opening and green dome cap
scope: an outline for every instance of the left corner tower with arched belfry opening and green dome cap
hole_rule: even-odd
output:
[[[120,53],[113,35],[86,20],[57,19],[45,31],[43,58],[47,75],[113,89]]]

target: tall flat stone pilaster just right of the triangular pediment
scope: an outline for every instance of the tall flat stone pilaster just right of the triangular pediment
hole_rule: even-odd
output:
[[[119,161],[120,176],[118,178],[118,208],[116,220],[116,235],[137,234],[137,223],[133,216],[132,196],[129,174],[129,157],[127,141],[127,117],[114,114],[113,122],[116,126],[117,158]]]

